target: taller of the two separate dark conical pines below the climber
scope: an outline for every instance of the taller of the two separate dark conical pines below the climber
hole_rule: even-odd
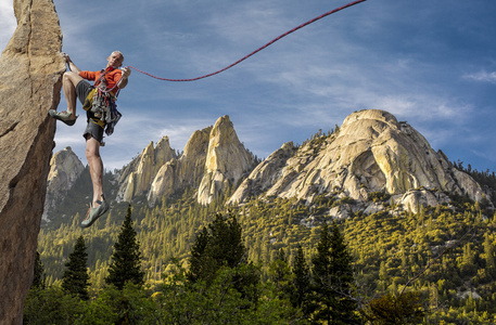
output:
[[[140,244],[132,227],[130,205],[120,226],[117,242],[114,244],[112,263],[109,266],[109,276],[105,282],[115,285],[119,290],[124,288],[126,282],[131,282],[138,286],[144,284],[144,272],[141,270]]]

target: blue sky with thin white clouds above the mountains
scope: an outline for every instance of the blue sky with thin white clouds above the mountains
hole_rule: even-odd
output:
[[[63,51],[98,70],[114,50],[124,65],[164,78],[216,72],[325,12],[338,0],[55,0]],[[211,78],[160,81],[132,72],[124,117],[106,138],[106,168],[120,168],[168,135],[182,151],[194,130],[229,115],[260,158],[302,143],[364,108],[408,121],[449,160],[496,170],[496,1],[368,0],[325,17]],[[0,0],[0,48],[13,30]],[[65,109],[62,101],[59,110]],[[85,117],[58,125],[55,151],[85,158]]]

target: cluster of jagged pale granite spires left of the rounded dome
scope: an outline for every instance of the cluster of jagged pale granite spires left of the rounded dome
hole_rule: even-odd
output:
[[[145,194],[153,206],[163,197],[191,186],[198,188],[198,202],[206,205],[234,186],[255,164],[227,115],[213,127],[194,131],[179,156],[168,146],[168,138],[164,139],[155,148],[151,143],[125,168],[119,178],[117,200],[131,202]],[[167,154],[156,159],[162,142],[166,143]]]

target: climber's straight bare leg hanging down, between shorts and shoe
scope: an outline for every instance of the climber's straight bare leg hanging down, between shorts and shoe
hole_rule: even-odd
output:
[[[91,182],[93,183],[93,200],[91,207],[97,208],[100,206],[97,200],[101,200],[103,195],[103,161],[100,157],[100,142],[89,134],[86,139],[86,158],[88,159]]]

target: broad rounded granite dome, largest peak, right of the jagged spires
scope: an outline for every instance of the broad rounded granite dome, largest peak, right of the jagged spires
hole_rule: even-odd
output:
[[[411,126],[387,112],[369,109],[349,115],[339,130],[297,151],[284,145],[250,174],[229,203],[245,202],[253,194],[307,202],[323,194],[367,202],[371,192],[385,192],[415,210],[418,203],[447,199],[421,188],[468,194],[474,200],[484,195]]]

